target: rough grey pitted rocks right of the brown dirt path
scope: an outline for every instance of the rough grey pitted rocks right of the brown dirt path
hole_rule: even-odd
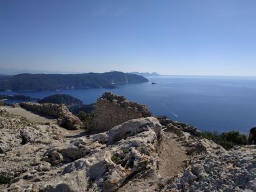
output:
[[[204,140],[201,145],[209,149],[212,143]],[[166,190],[256,191],[255,152],[255,145],[202,151]]]

